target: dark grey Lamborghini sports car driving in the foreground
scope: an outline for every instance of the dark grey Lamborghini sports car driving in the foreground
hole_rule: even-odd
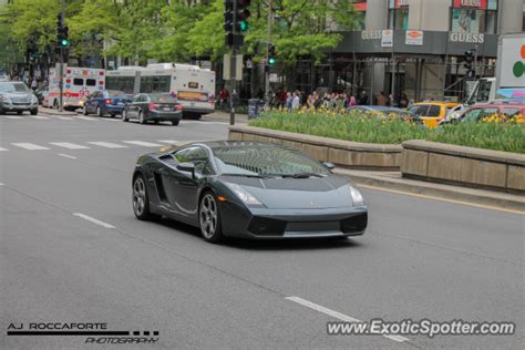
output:
[[[332,167],[270,143],[168,146],[138,158],[133,212],[197,226],[210,243],[362,235],[363,197]]]

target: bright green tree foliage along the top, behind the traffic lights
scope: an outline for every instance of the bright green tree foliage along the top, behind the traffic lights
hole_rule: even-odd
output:
[[[195,55],[219,60],[226,52],[224,0],[66,0],[71,54],[107,54],[145,63],[187,61]],[[7,6],[11,39],[22,48],[29,38],[54,45],[58,0],[14,0]],[[244,52],[266,55],[268,0],[251,1]],[[279,61],[319,60],[341,40],[336,30],[351,28],[353,4],[336,0],[274,0],[272,35]],[[0,27],[0,31],[2,27]]]

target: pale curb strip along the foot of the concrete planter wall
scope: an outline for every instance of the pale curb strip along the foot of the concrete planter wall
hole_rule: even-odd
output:
[[[481,206],[518,210],[525,214],[525,196],[521,195],[403,178],[400,172],[337,168],[334,173],[350,177],[358,185],[381,187],[393,192],[408,192],[445,200],[469,202]]]

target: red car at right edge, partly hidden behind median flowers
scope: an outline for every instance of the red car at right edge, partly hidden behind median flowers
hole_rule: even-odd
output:
[[[451,123],[481,122],[493,116],[509,120],[517,115],[525,115],[525,104],[490,103],[467,109],[456,120],[451,120]]]

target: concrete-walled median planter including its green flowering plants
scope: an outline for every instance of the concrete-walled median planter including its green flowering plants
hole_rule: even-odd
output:
[[[428,130],[395,116],[271,111],[248,126],[231,126],[229,140],[279,143],[346,168],[401,171],[419,179],[525,193],[523,124]]]

